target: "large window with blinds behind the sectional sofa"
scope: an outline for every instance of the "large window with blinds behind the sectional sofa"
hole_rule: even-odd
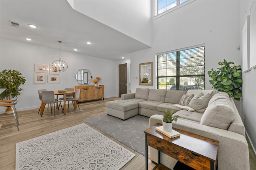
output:
[[[204,46],[157,55],[157,88],[205,89],[204,56]]]

